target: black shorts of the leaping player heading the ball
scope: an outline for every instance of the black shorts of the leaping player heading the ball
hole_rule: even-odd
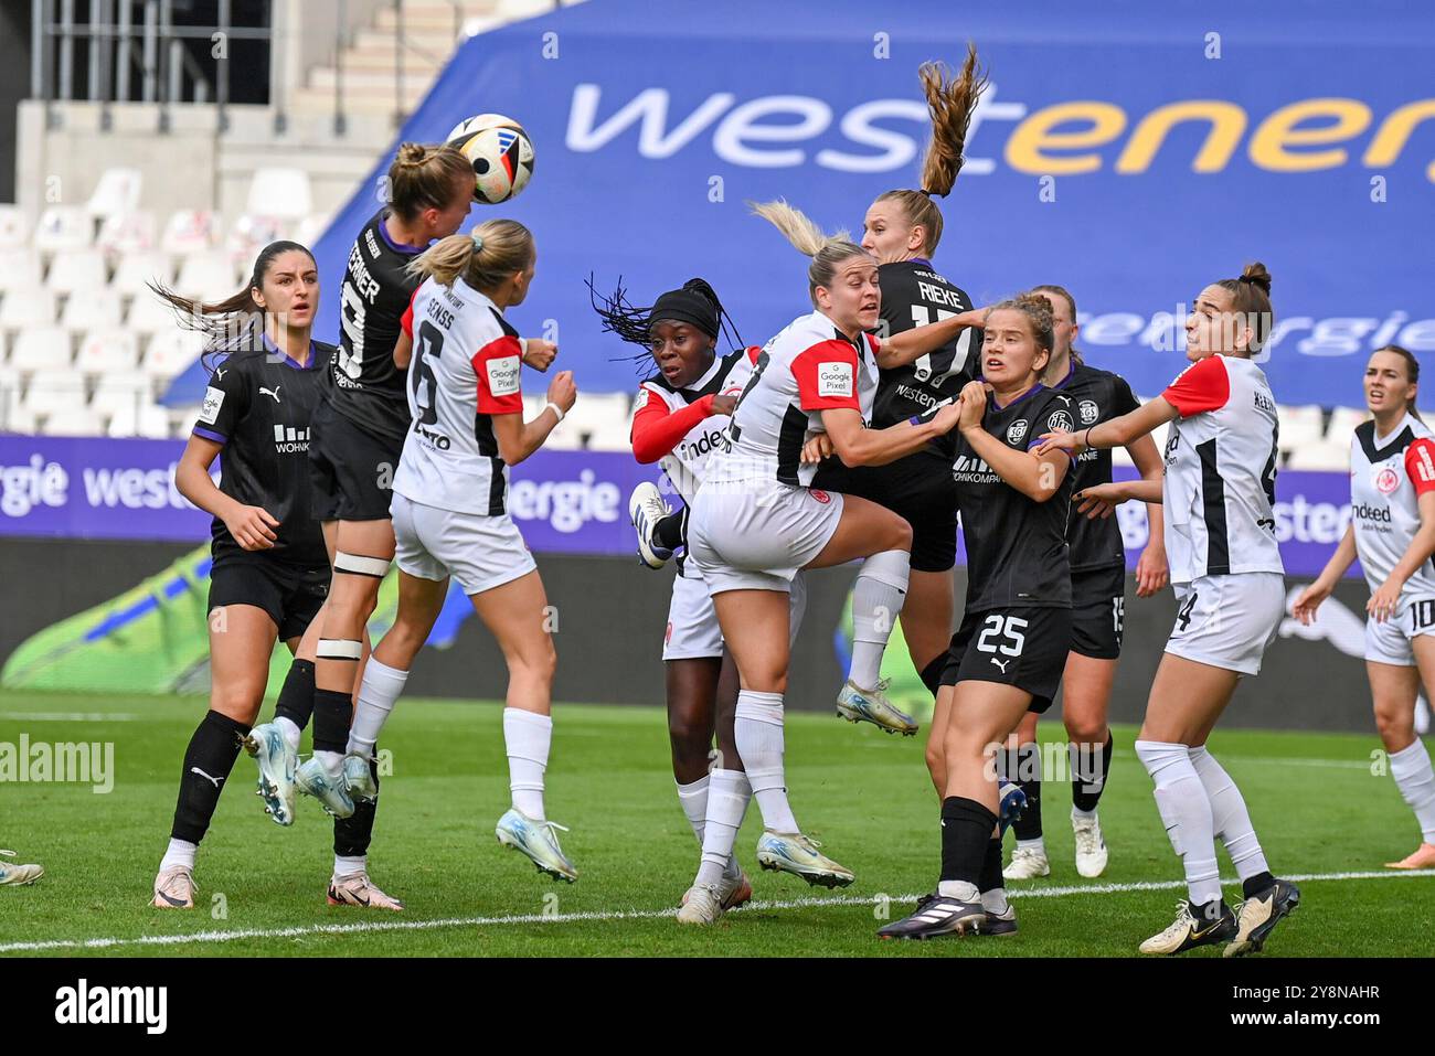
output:
[[[319,521],[387,521],[403,440],[366,433],[327,400],[309,442],[310,508]]]

